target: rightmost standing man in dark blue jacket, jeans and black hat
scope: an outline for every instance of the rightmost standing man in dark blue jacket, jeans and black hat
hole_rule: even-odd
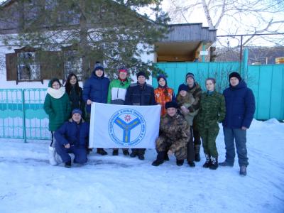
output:
[[[223,121],[226,160],[219,165],[234,165],[235,141],[240,175],[246,175],[246,167],[249,165],[246,151],[246,130],[249,129],[253,120],[256,104],[253,92],[246,86],[246,82],[241,79],[238,72],[231,72],[229,82],[229,88],[223,92],[226,102],[226,117]]]

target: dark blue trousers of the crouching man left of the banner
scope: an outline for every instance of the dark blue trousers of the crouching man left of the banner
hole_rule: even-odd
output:
[[[56,142],[55,149],[58,155],[60,155],[63,163],[71,160],[68,153],[73,153],[75,155],[74,163],[86,163],[87,162],[87,150],[86,148],[77,148],[75,146],[70,146],[70,148],[65,148],[62,144]]]

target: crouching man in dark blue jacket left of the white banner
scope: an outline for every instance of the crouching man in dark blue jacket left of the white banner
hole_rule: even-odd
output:
[[[87,140],[89,137],[89,124],[82,119],[82,111],[74,109],[72,118],[66,121],[60,129],[55,131],[56,152],[65,163],[65,167],[71,167],[71,158],[68,153],[75,155],[74,163],[87,162]]]

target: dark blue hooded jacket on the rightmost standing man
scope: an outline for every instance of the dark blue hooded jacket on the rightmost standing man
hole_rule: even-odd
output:
[[[231,129],[241,129],[242,126],[249,128],[256,110],[253,92],[241,80],[236,87],[225,89],[226,116],[223,126]]]

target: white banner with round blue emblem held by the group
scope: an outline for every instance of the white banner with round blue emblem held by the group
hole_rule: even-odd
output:
[[[92,103],[89,148],[155,148],[160,105]]]

